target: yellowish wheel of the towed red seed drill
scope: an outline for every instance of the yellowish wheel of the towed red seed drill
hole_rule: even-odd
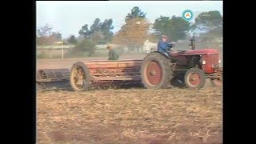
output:
[[[86,91],[90,87],[90,71],[82,62],[74,63],[70,70],[70,85],[75,91]]]

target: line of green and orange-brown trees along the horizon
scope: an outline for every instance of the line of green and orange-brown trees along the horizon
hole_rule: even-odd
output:
[[[78,38],[71,35],[67,42],[75,45],[74,51],[89,51],[94,54],[96,44],[111,42],[134,50],[143,46],[147,39],[157,42],[162,34],[166,34],[174,42],[186,38],[189,33],[196,34],[197,31],[201,31],[201,35],[222,36],[222,15],[218,10],[202,12],[195,18],[194,23],[175,15],[171,18],[161,15],[160,18],[155,19],[154,23],[150,23],[146,18],[146,13],[138,6],[134,6],[126,15],[125,24],[121,29],[116,34],[112,32],[113,29],[112,18],[103,21],[95,18],[91,26],[85,24],[78,30],[82,41],[78,42]],[[38,45],[49,45],[62,39],[62,34],[51,30],[52,28],[48,25],[37,30]]]

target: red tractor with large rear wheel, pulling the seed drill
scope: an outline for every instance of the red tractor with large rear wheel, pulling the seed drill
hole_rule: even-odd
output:
[[[170,57],[154,51],[143,59],[142,83],[148,89],[187,86],[200,89],[210,78],[212,86],[222,86],[222,68],[218,50],[194,50],[194,37],[190,40],[192,50],[169,52]]]

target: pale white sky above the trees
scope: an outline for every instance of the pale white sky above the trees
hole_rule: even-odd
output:
[[[134,6],[146,13],[146,18],[154,23],[162,16],[182,16],[183,10],[192,10],[194,18],[197,14],[210,10],[218,10],[223,15],[222,1],[38,1],[36,2],[36,28],[46,23],[54,27],[53,31],[67,38],[71,34],[78,36],[78,31],[95,18],[104,22],[113,19],[113,32],[124,24],[124,19]]]

